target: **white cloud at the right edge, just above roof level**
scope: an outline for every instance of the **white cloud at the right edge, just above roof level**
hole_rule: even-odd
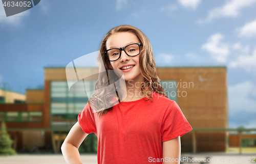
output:
[[[254,49],[251,55],[247,53],[240,54],[234,61],[229,63],[229,67],[240,67],[247,72],[256,73],[256,49]]]

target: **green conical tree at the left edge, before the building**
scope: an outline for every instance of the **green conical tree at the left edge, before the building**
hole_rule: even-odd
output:
[[[0,155],[15,155],[15,150],[12,149],[13,141],[10,139],[10,135],[6,131],[5,122],[2,122],[2,128],[0,129]]]

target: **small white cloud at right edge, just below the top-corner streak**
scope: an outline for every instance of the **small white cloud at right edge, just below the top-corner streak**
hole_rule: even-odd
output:
[[[246,23],[242,28],[238,29],[240,37],[255,37],[256,36],[256,19]]]

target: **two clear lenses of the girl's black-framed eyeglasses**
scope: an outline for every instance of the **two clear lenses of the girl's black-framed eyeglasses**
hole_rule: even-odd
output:
[[[129,45],[125,47],[125,51],[127,54],[129,54],[129,56],[136,56],[140,53],[139,45],[138,44]],[[111,49],[108,52],[106,52],[106,54],[108,54],[110,61],[117,60],[120,56],[120,49],[118,48]]]

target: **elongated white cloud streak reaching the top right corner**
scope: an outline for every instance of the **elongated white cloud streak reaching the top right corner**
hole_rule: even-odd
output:
[[[240,11],[245,7],[250,7],[256,0],[230,0],[224,6],[212,9],[208,17],[203,21],[211,21],[214,18],[219,17],[236,17],[240,14]]]

